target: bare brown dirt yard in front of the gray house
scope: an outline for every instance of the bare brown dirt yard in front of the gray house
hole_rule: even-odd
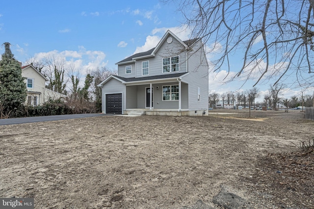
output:
[[[35,209],[314,208],[314,153],[297,148],[313,121],[209,112],[0,126],[0,197]]]

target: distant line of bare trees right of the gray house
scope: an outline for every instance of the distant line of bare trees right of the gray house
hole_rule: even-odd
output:
[[[261,106],[270,107],[277,109],[279,104],[286,107],[297,107],[297,106],[313,106],[313,95],[303,95],[302,97],[292,96],[290,99],[281,96],[282,91],[285,90],[284,84],[276,83],[270,85],[266,94],[263,96],[263,102],[259,103]],[[259,98],[261,91],[257,87],[245,91],[232,92],[218,94],[215,92],[209,93],[209,106],[212,108],[222,107],[226,104],[243,107],[255,107],[257,104],[255,100]],[[221,101],[221,104],[220,104]]]

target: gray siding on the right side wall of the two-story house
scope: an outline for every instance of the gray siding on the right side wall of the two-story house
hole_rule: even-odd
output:
[[[208,92],[209,82],[208,74],[209,68],[207,58],[203,47],[200,48],[201,42],[193,48],[194,51],[189,52],[188,57],[188,72],[182,81],[188,83],[188,107],[191,110],[207,109],[208,108]],[[197,51],[197,49],[199,49]],[[201,62],[201,63],[200,63]],[[197,88],[201,89],[200,102],[197,101]]]

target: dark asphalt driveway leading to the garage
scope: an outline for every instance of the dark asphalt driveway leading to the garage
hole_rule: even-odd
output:
[[[38,116],[38,117],[27,117],[27,118],[8,118],[8,119],[0,119],[0,126],[11,125],[11,124],[21,124],[21,123],[44,122],[44,121],[58,121],[58,120],[67,120],[67,119],[75,119],[75,118],[88,118],[88,117],[97,117],[97,116],[106,116],[106,115],[110,115],[110,114],[91,113],[91,114]]]

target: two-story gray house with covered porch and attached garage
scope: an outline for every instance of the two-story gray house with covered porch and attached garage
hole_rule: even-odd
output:
[[[208,115],[209,65],[201,39],[168,30],[157,46],[127,57],[98,86],[107,114]]]

